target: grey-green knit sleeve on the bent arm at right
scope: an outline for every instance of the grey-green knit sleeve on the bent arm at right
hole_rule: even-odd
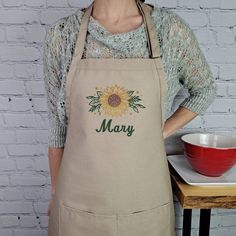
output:
[[[180,106],[203,114],[216,97],[213,74],[190,25],[176,13],[170,37],[175,38],[179,82],[189,92]]]

